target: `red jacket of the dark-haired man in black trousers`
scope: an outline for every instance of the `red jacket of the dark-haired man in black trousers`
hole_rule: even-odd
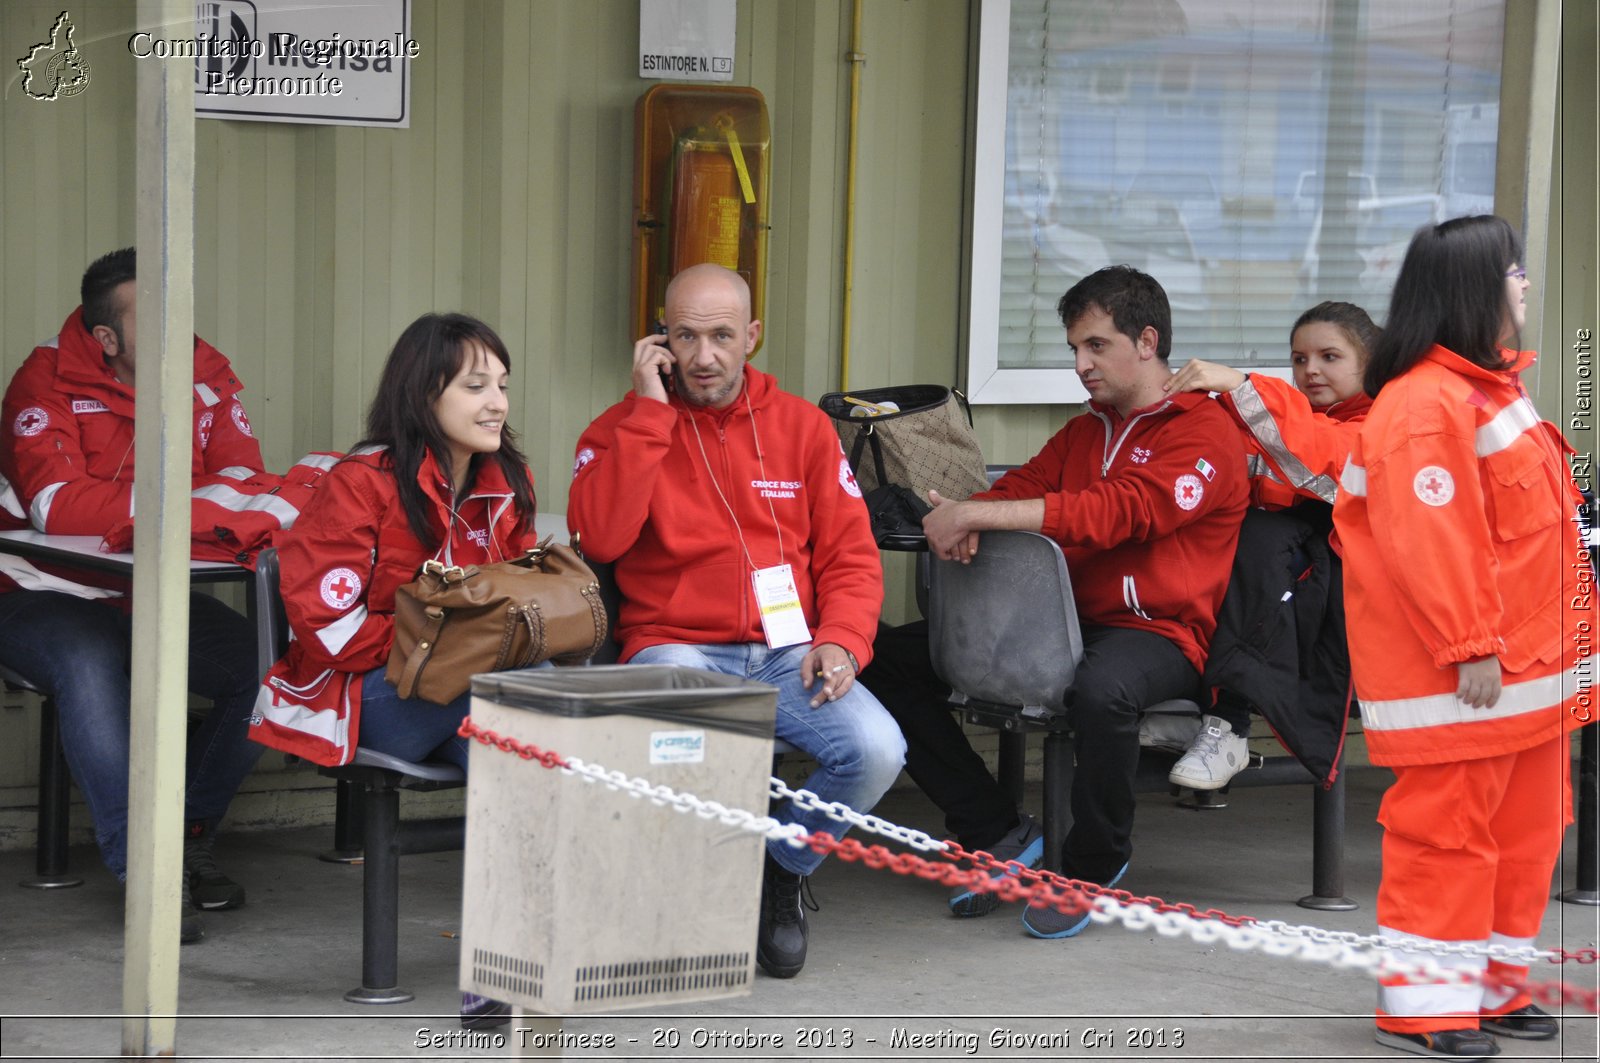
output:
[[[1250,488],[1245,445],[1205,394],[1126,419],[1098,402],[976,499],[1045,499],[1078,618],[1170,639],[1205,669]]]

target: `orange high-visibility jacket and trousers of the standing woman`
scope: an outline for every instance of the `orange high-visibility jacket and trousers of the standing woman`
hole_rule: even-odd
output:
[[[1592,719],[1594,576],[1560,432],[1520,384],[1533,352],[1480,368],[1434,347],[1373,402],[1334,503],[1350,664],[1384,796],[1386,937],[1531,946],[1571,820],[1566,735]],[[1494,655],[1501,695],[1456,698]],[[1526,967],[1400,948],[1520,981]],[[1378,1025],[1477,1026],[1530,996],[1498,985],[1381,980]]]

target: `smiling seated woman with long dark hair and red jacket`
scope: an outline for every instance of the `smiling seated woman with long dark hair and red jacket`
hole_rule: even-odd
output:
[[[366,435],[322,480],[278,541],[294,640],[256,700],[258,741],[315,764],[360,744],[405,760],[467,767],[456,735],[470,695],[402,698],[384,677],[395,589],[424,560],[482,565],[534,546],[533,474],[506,423],[510,354],[464,314],[424,314],[395,341]],[[464,994],[464,1025],[507,1021],[504,1004]]]

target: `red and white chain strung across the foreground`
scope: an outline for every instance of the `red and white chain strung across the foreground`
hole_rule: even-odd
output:
[[[1026,901],[1056,908],[1067,914],[1083,913],[1099,924],[1120,922],[1128,930],[1154,930],[1162,937],[1189,937],[1200,945],[1222,943],[1234,951],[1259,951],[1267,956],[1294,957],[1326,964],[1341,970],[1365,970],[1374,977],[1406,977],[1418,981],[1477,985],[1491,981],[1477,965],[1445,965],[1432,959],[1472,957],[1493,959],[1504,964],[1528,967],[1536,962],[1597,962],[1597,949],[1538,949],[1509,948],[1504,945],[1450,945],[1408,938],[1395,941],[1374,933],[1349,930],[1325,930],[1306,924],[1290,924],[1282,919],[1253,919],[1230,916],[1219,909],[1197,909],[1187,903],[1163,901],[1158,897],[1134,897],[1126,890],[1078,882],[1051,871],[1024,868],[1014,861],[1000,861],[986,852],[968,852],[955,842],[941,840],[923,831],[899,826],[882,816],[864,815],[842,804],[822,800],[806,789],[794,789],[773,778],[770,794],[789,800],[794,807],[819,812],[827,818],[896,840],[909,848],[933,853],[925,860],[912,853],[894,853],[882,845],[862,845],[854,839],[835,839],[826,832],[811,834],[795,823],[779,823],[773,816],[758,816],[744,808],[730,808],[715,800],[675,791],[670,786],[651,783],[642,776],[608,770],[579,757],[563,756],[501,736],[477,727],[472,717],[461,724],[461,736],[474,738],[486,746],[517,754],[525,760],[538,760],[547,768],[576,775],[586,783],[598,783],[658,807],[693,813],[701,820],[717,820],[725,826],[760,834],[770,840],[782,840],[795,848],[810,847],[832,853],[842,860],[859,861],[870,868],[891,869],[896,874],[914,876],[942,885],[963,885],[974,892],[992,892],[1003,901]],[[962,866],[965,864],[965,866]],[[1003,877],[995,877],[1002,876]],[[1397,959],[1398,953],[1429,956],[1416,961]],[[1600,993],[1574,989],[1565,983],[1530,985],[1528,989],[1541,1004],[1576,1004],[1589,1012],[1600,1010]]]

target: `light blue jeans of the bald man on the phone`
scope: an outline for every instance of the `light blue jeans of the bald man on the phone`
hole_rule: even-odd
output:
[[[856,812],[870,812],[906,764],[906,738],[894,717],[861,684],[854,684],[838,701],[824,701],[813,709],[816,685],[811,690],[800,685],[800,661],[810,650],[810,644],[782,650],[768,650],[760,642],[669,644],[646,647],[630,663],[704,668],[771,684],[778,688],[774,735],[818,762],[805,788],[822,800],[842,800]],[[826,813],[795,812],[787,804],[773,815],[782,823],[798,823],[813,832],[827,831],[834,837],[843,837],[846,829]],[[822,863],[821,853],[787,842],[768,842],[766,852],[795,874],[811,874]]]

